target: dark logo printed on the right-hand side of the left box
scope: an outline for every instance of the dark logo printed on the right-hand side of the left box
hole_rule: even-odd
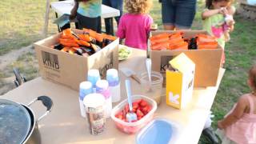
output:
[[[114,53],[111,52],[106,56],[106,65],[103,67],[99,67],[99,74],[102,78],[106,78],[106,70],[112,69],[114,67]]]

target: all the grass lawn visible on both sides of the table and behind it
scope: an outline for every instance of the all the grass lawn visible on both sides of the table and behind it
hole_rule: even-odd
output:
[[[28,46],[41,39],[42,27],[44,24],[46,1],[24,0],[2,0],[0,2],[0,55],[8,53],[10,50]],[[198,13],[195,16],[192,29],[202,29],[201,13],[204,9],[204,2],[198,1]],[[154,22],[162,30],[161,6],[158,0],[154,0],[153,9],[150,15]],[[50,14],[49,35],[57,32],[57,27],[51,22],[54,13]],[[242,94],[250,90],[246,85],[247,70],[256,63],[256,25],[255,22],[235,16],[235,29],[230,34],[231,41],[226,44],[226,73],[222,79],[212,110],[215,114],[213,126],[216,122],[230,110]],[[0,72],[1,78],[10,76],[13,66],[20,68],[23,74],[29,79],[38,76],[38,66],[34,60],[34,54],[28,53],[18,58],[17,62],[7,66],[4,72]],[[29,66],[25,64],[29,64]],[[202,138],[199,143],[207,143]]]

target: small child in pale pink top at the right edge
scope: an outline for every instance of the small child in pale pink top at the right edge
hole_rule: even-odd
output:
[[[247,83],[252,92],[242,95],[233,110],[218,121],[222,143],[256,143],[256,65],[250,69]]]

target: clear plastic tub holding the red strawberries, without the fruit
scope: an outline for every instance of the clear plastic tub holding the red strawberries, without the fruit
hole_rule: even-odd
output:
[[[126,134],[134,134],[138,132],[138,130],[141,130],[143,126],[145,126],[148,122],[152,120],[154,117],[154,112],[157,110],[157,103],[146,96],[143,95],[133,95],[132,101],[136,101],[139,99],[145,100],[150,106],[152,106],[152,109],[148,114],[146,114],[142,119],[138,120],[137,122],[124,122],[121,119],[118,119],[115,117],[115,114],[118,114],[123,110],[128,103],[128,100],[124,100],[120,102],[117,106],[114,107],[114,109],[111,112],[111,118],[114,120],[115,125],[117,126],[118,130],[121,130],[122,132]]]

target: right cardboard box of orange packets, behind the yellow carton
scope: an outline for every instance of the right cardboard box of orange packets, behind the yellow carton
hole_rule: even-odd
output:
[[[152,35],[161,33],[175,33],[177,31],[154,31]],[[196,34],[207,34],[205,30],[183,31],[185,38],[194,37]],[[152,70],[158,71],[163,75],[164,84],[166,82],[166,70],[170,67],[171,59],[178,54],[186,54],[196,65],[195,68],[195,87],[216,86],[218,70],[222,59],[222,48],[212,50],[150,50],[152,59]],[[164,85],[165,86],[165,85]]]

